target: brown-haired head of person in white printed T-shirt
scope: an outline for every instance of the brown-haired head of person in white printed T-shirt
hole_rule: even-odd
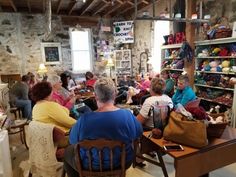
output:
[[[163,79],[153,78],[151,81],[150,92],[151,95],[162,95],[166,87],[166,83]]]

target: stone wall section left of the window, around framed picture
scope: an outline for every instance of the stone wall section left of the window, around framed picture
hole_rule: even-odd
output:
[[[35,73],[43,62],[41,42],[46,33],[45,16],[1,13],[0,24],[0,74]],[[60,17],[52,18],[52,33],[48,42],[62,44],[62,64],[48,66],[49,71],[72,67],[68,29],[61,24]]]

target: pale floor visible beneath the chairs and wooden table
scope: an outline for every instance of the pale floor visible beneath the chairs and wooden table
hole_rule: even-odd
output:
[[[22,177],[23,174],[19,168],[19,164],[22,160],[28,158],[28,150],[26,150],[25,146],[20,143],[20,137],[17,135],[10,136],[10,147],[13,177]],[[174,177],[175,170],[173,159],[170,156],[165,155],[164,161],[169,177]],[[148,162],[145,163],[146,166],[144,168],[130,167],[126,172],[126,177],[163,177],[162,171],[159,167]],[[236,163],[211,172],[210,177],[236,177]]]

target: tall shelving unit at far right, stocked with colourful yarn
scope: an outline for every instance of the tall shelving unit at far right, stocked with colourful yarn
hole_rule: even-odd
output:
[[[232,70],[232,66],[236,65],[236,56],[231,51],[232,45],[236,45],[236,38],[221,38],[215,40],[196,41],[196,57],[195,57],[195,90],[198,98],[204,100],[208,107],[214,105],[221,105],[226,109],[235,107],[234,88],[228,83],[231,77],[235,77],[236,73]],[[199,47],[199,48],[198,48]],[[226,49],[228,56],[212,56],[214,48]],[[199,49],[208,50],[209,56],[198,57]],[[209,51],[211,50],[211,51]],[[228,72],[215,71],[210,68],[210,71],[201,68],[203,62],[217,61],[220,64],[222,61],[230,62],[230,69]],[[234,61],[235,60],[235,61]],[[232,120],[235,119],[232,117]]]

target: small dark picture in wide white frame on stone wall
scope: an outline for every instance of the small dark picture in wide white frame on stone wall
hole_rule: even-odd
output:
[[[41,43],[42,58],[46,65],[61,64],[61,44],[55,42]]]

